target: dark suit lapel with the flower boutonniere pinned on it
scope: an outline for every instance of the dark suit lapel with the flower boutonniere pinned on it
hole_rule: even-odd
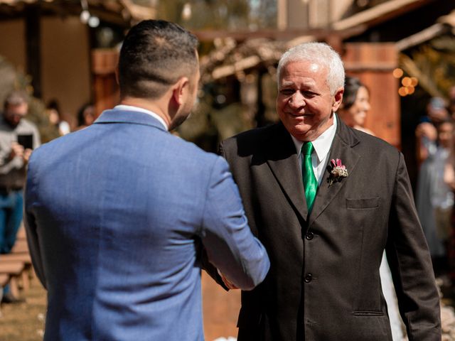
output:
[[[344,124],[339,117],[337,117],[337,131],[336,135],[333,138],[331,151],[328,156],[328,165],[330,165],[330,161],[332,159],[341,159],[343,165],[346,166],[348,173],[350,174],[355,165],[358,163],[360,159],[360,155],[354,151],[352,148],[356,144],[358,144],[358,139],[355,138],[352,131]],[[328,166],[327,165],[327,166]],[[328,177],[330,175],[330,171],[326,167],[324,171],[323,179],[321,185],[319,186],[318,193],[316,194],[316,200],[314,201],[314,207],[311,211],[311,215],[309,216],[309,224],[308,227],[316,220],[319,215],[326,209],[326,207],[331,203],[334,197],[338,194],[338,192],[343,188],[343,186],[348,181],[348,178],[344,178],[339,182],[334,182],[330,185],[328,183]]]

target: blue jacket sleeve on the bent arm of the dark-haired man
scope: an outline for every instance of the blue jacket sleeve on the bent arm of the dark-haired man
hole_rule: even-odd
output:
[[[210,176],[201,234],[208,260],[235,286],[251,290],[264,280],[269,257],[248,227],[237,185],[221,157]]]

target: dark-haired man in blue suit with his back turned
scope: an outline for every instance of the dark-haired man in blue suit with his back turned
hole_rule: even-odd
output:
[[[227,163],[168,133],[196,98],[196,48],[176,24],[134,26],[120,105],[33,153],[26,229],[45,340],[203,340],[203,249],[244,290],[266,276]]]

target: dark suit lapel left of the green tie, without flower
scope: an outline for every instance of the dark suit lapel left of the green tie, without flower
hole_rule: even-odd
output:
[[[266,148],[266,160],[283,192],[295,210],[306,220],[308,210],[296,147],[282,124],[278,125],[278,129],[279,131],[273,134]]]

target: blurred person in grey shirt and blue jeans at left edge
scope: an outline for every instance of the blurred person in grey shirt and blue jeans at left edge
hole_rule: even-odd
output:
[[[0,121],[0,254],[9,254],[16,242],[22,222],[28,158],[33,148],[41,144],[35,124],[24,118],[27,113],[28,96],[11,92],[4,101]],[[5,287],[1,302],[18,301]]]

